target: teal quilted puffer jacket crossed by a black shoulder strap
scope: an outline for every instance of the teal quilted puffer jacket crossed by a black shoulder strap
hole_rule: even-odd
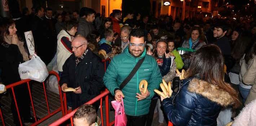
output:
[[[120,84],[129,75],[138,60],[143,57],[145,57],[144,62],[128,84],[122,89],[125,113],[129,116],[141,116],[149,113],[151,98],[155,95],[154,89],[158,89],[162,81],[156,60],[150,55],[146,55],[146,49],[144,49],[141,57],[135,58],[129,53],[128,48],[126,48],[124,53],[115,56],[113,60],[111,60],[103,77],[104,85],[110,93],[114,95],[114,90],[119,88]],[[147,89],[150,95],[146,99],[137,101],[136,93],[140,94],[139,84],[143,79],[148,82]]]

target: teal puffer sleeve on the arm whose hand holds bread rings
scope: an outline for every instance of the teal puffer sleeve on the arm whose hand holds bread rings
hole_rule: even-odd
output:
[[[149,81],[149,85],[147,87],[147,90],[149,90],[150,95],[147,99],[151,99],[153,98],[153,96],[155,95],[154,89],[159,89],[159,84],[162,81],[162,75],[160,73],[160,69],[155,61],[155,59],[152,57],[152,68],[153,68],[153,72],[151,74],[150,77],[150,81]]]

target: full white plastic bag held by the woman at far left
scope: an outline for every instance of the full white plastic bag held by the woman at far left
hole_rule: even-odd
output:
[[[45,63],[36,54],[32,56],[31,60],[19,64],[18,71],[22,80],[31,79],[43,82],[49,75]]]

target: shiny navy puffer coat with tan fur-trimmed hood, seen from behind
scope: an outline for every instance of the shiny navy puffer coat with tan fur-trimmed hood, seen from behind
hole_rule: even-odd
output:
[[[171,104],[173,97],[162,101],[164,113],[175,126],[217,126],[221,108],[234,103],[228,92],[206,81],[184,80],[183,84],[176,105]]]

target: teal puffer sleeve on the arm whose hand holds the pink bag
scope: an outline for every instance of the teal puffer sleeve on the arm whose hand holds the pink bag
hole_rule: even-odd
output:
[[[103,77],[104,85],[107,87],[107,89],[110,91],[112,95],[115,96],[114,90],[116,88],[119,88],[119,86],[116,83],[116,78],[117,78],[117,67],[116,65],[116,60],[113,58],[111,60],[109,66],[107,67],[107,71],[105,72],[105,75]]]

